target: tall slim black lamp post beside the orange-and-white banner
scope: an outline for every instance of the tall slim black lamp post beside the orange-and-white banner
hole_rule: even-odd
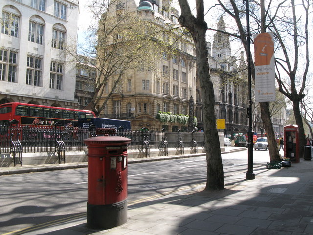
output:
[[[246,33],[247,33],[247,61],[248,61],[248,86],[249,86],[249,107],[248,107],[248,170],[246,180],[255,179],[253,173],[253,131],[252,131],[252,81],[251,81],[251,56],[250,56],[250,19],[249,19],[249,0],[246,1]]]

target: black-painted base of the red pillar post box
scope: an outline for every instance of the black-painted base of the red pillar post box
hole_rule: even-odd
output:
[[[87,227],[111,229],[127,222],[127,199],[109,205],[87,203]]]

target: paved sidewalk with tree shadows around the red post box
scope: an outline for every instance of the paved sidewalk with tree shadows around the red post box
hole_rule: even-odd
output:
[[[75,229],[92,235],[312,235],[312,169],[303,159],[291,168],[254,168],[254,180],[245,180],[245,173],[227,177],[222,191],[203,192],[200,185],[129,205],[128,222],[117,228]],[[75,234],[69,231],[63,232]]]

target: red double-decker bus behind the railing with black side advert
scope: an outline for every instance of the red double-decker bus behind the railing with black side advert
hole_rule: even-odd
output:
[[[78,118],[94,118],[89,110],[68,109],[36,104],[5,103],[0,105],[0,126],[9,126],[17,120],[20,126],[77,126]]]

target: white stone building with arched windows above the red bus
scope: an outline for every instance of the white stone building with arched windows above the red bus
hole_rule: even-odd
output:
[[[0,103],[75,107],[78,0],[1,0]]]

